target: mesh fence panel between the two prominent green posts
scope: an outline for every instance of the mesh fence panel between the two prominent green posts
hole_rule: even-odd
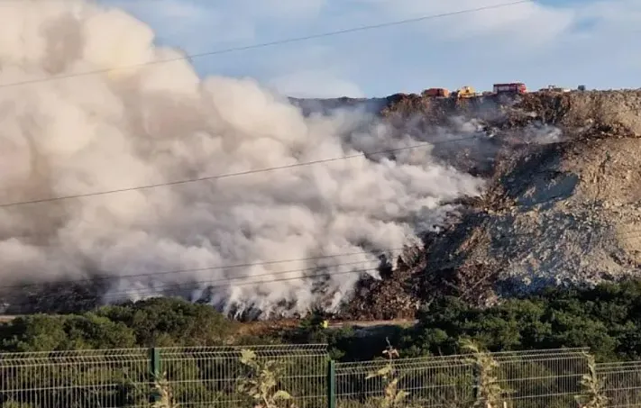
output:
[[[160,370],[168,381],[174,402],[180,407],[252,407],[247,393],[240,392],[243,379],[274,374],[274,385],[265,393],[287,392],[300,408],[326,406],[327,350],[325,345],[259,346],[258,369],[243,364],[242,348],[161,349]],[[269,375],[269,374],[267,374]],[[269,380],[263,380],[267,383]],[[260,401],[263,403],[263,401]]]

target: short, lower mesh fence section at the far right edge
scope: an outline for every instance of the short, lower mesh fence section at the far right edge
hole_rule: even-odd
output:
[[[597,376],[608,407],[641,407],[641,361],[598,364]]]

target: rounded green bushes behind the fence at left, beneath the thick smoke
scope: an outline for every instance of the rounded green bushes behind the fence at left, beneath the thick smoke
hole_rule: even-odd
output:
[[[0,325],[0,347],[50,351],[211,346],[229,340],[234,324],[205,304],[155,298],[90,313],[18,317]]]

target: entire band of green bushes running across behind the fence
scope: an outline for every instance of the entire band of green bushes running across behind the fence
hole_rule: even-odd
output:
[[[311,313],[293,330],[245,335],[206,304],[154,298],[89,313],[34,314],[0,325],[0,350],[48,351],[222,344],[327,342],[334,358],[380,356],[388,338],[403,357],[459,353],[462,339],[490,351],[590,347],[600,361],[641,358],[641,281],[553,288],[477,308],[444,296],[418,313],[417,326],[379,337],[325,329]]]

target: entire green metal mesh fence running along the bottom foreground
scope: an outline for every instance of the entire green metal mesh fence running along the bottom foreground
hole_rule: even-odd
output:
[[[290,395],[274,404],[282,408],[369,408],[392,399],[397,407],[468,408],[481,398],[482,367],[473,355],[394,359],[389,366],[385,359],[328,364],[325,345],[248,349],[249,363],[239,347],[0,354],[0,408],[245,408],[278,391]],[[586,351],[490,354],[500,405],[576,406],[589,373]],[[597,375],[608,407],[641,407],[641,361],[599,364]],[[242,385],[266,386],[256,399]]]

